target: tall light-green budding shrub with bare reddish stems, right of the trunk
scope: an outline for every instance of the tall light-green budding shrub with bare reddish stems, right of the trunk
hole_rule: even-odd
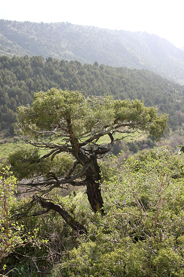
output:
[[[171,233],[177,235],[180,219],[184,218],[183,160],[171,155],[169,147],[153,149],[137,157],[129,158],[120,168],[123,213],[134,215],[145,235],[161,242]],[[108,197],[117,197],[114,190]]]

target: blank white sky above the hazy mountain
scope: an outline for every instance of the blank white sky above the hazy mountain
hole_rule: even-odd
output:
[[[2,0],[0,19],[146,31],[184,46],[184,0]]]

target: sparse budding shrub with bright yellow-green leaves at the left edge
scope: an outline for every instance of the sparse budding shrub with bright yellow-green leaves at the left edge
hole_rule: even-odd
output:
[[[19,224],[10,212],[10,203],[15,190],[16,178],[9,171],[9,168],[2,168],[0,172],[0,263],[4,258],[20,246],[28,243],[33,245],[38,243],[36,234],[38,229],[33,232],[24,232],[24,225]]]

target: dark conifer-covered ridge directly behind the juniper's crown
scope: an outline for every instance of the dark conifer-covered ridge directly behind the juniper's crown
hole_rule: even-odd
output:
[[[148,70],[82,65],[41,56],[0,57],[0,122],[15,122],[17,106],[31,104],[34,92],[51,87],[81,90],[88,95],[113,95],[114,99],[140,99],[169,113],[175,130],[184,122],[184,88]]]

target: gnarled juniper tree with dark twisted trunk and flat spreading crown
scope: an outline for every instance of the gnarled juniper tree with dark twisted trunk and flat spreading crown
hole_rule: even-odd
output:
[[[92,210],[101,213],[98,160],[111,150],[115,141],[123,140],[135,130],[158,140],[167,126],[167,115],[158,115],[156,108],[145,107],[140,100],[113,100],[107,95],[85,98],[80,91],[55,88],[36,93],[33,104],[19,107],[18,114],[21,139],[47,153],[40,155],[33,149],[11,154],[9,161],[17,177],[29,179],[26,186],[40,191],[42,196],[54,188],[86,186]],[[109,138],[107,147],[99,142],[104,136]],[[43,198],[37,200],[46,209],[44,212],[56,209]],[[67,221],[67,211],[63,209],[60,214]],[[77,224],[71,225],[81,228]]]

